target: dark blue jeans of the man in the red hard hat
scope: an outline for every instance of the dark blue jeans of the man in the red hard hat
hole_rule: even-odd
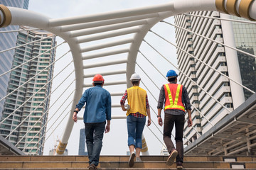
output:
[[[89,164],[99,164],[102,139],[106,122],[85,123],[85,139],[89,157]]]

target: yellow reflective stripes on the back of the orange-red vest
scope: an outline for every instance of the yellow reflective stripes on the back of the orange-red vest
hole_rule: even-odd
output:
[[[179,110],[182,110],[182,111],[185,111],[185,108],[183,106],[183,103],[181,102],[181,105],[178,105],[178,96],[180,94],[180,91],[181,91],[181,84],[178,84],[177,86],[177,89],[176,89],[176,95],[175,95],[175,98],[174,98],[174,101],[173,101],[173,98],[171,96],[171,89],[169,87],[168,84],[165,84],[164,85],[166,87],[166,91],[168,93],[168,96],[169,96],[169,102],[170,102],[170,105],[168,106],[165,106],[164,107],[164,110],[166,109],[179,109]],[[180,100],[182,101],[182,99],[180,98]]]

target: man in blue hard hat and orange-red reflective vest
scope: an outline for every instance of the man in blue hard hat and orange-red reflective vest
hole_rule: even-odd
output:
[[[161,110],[164,106],[164,143],[170,153],[167,159],[167,164],[174,164],[176,158],[176,165],[178,169],[182,169],[183,163],[183,128],[185,123],[185,111],[188,112],[188,127],[193,124],[191,119],[191,103],[188,98],[188,91],[186,87],[177,84],[178,74],[174,70],[169,70],[166,77],[168,78],[169,84],[164,84],[161,87],[159,94],[159,101],[157,105],[158,110],[158,123],[160,126],[163,125],[161,118]],[[171,141],[171,131],[175,125],[175,141]]]

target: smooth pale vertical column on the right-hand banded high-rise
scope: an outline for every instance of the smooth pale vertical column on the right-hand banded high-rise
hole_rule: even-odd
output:
[[[220,18],[230,19],[230,16],[220,13]],[[235,38],[232,23],[229,21],[221,21],[221,27],[223,31],[223,42],[225,43],[225,45],[235,47]],[[229,47],[225,47],[225,55],[228,65],[228,75],[230,79],[233,79],[242,84],[240,67],[238,62],[238,52],[236,50],[230,49]],[[242,87],[233,81],[230,81],[230,89],[232,94],[233,106],[235,109],[238,108],[240,104],[245,102],[245,95]]]

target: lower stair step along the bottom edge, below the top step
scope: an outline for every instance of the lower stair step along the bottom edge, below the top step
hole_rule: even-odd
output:
[[[184,168],[198,168],[203,166],[205,169],[230,169],[231,164],[240,164],[245,168],[256,168],[256,162],[184,162]],[[88,162],[0,162],[0,168],[15,168],[15,169],[37,169],[44,168],[85,168]],[[99,168],[102,169],[120,169],[129,168],[127,162],[100,162]],[[140,169],[176,169],[176,164],[171,166],[166,165],[166,162],[135,162],[133,168]]]

